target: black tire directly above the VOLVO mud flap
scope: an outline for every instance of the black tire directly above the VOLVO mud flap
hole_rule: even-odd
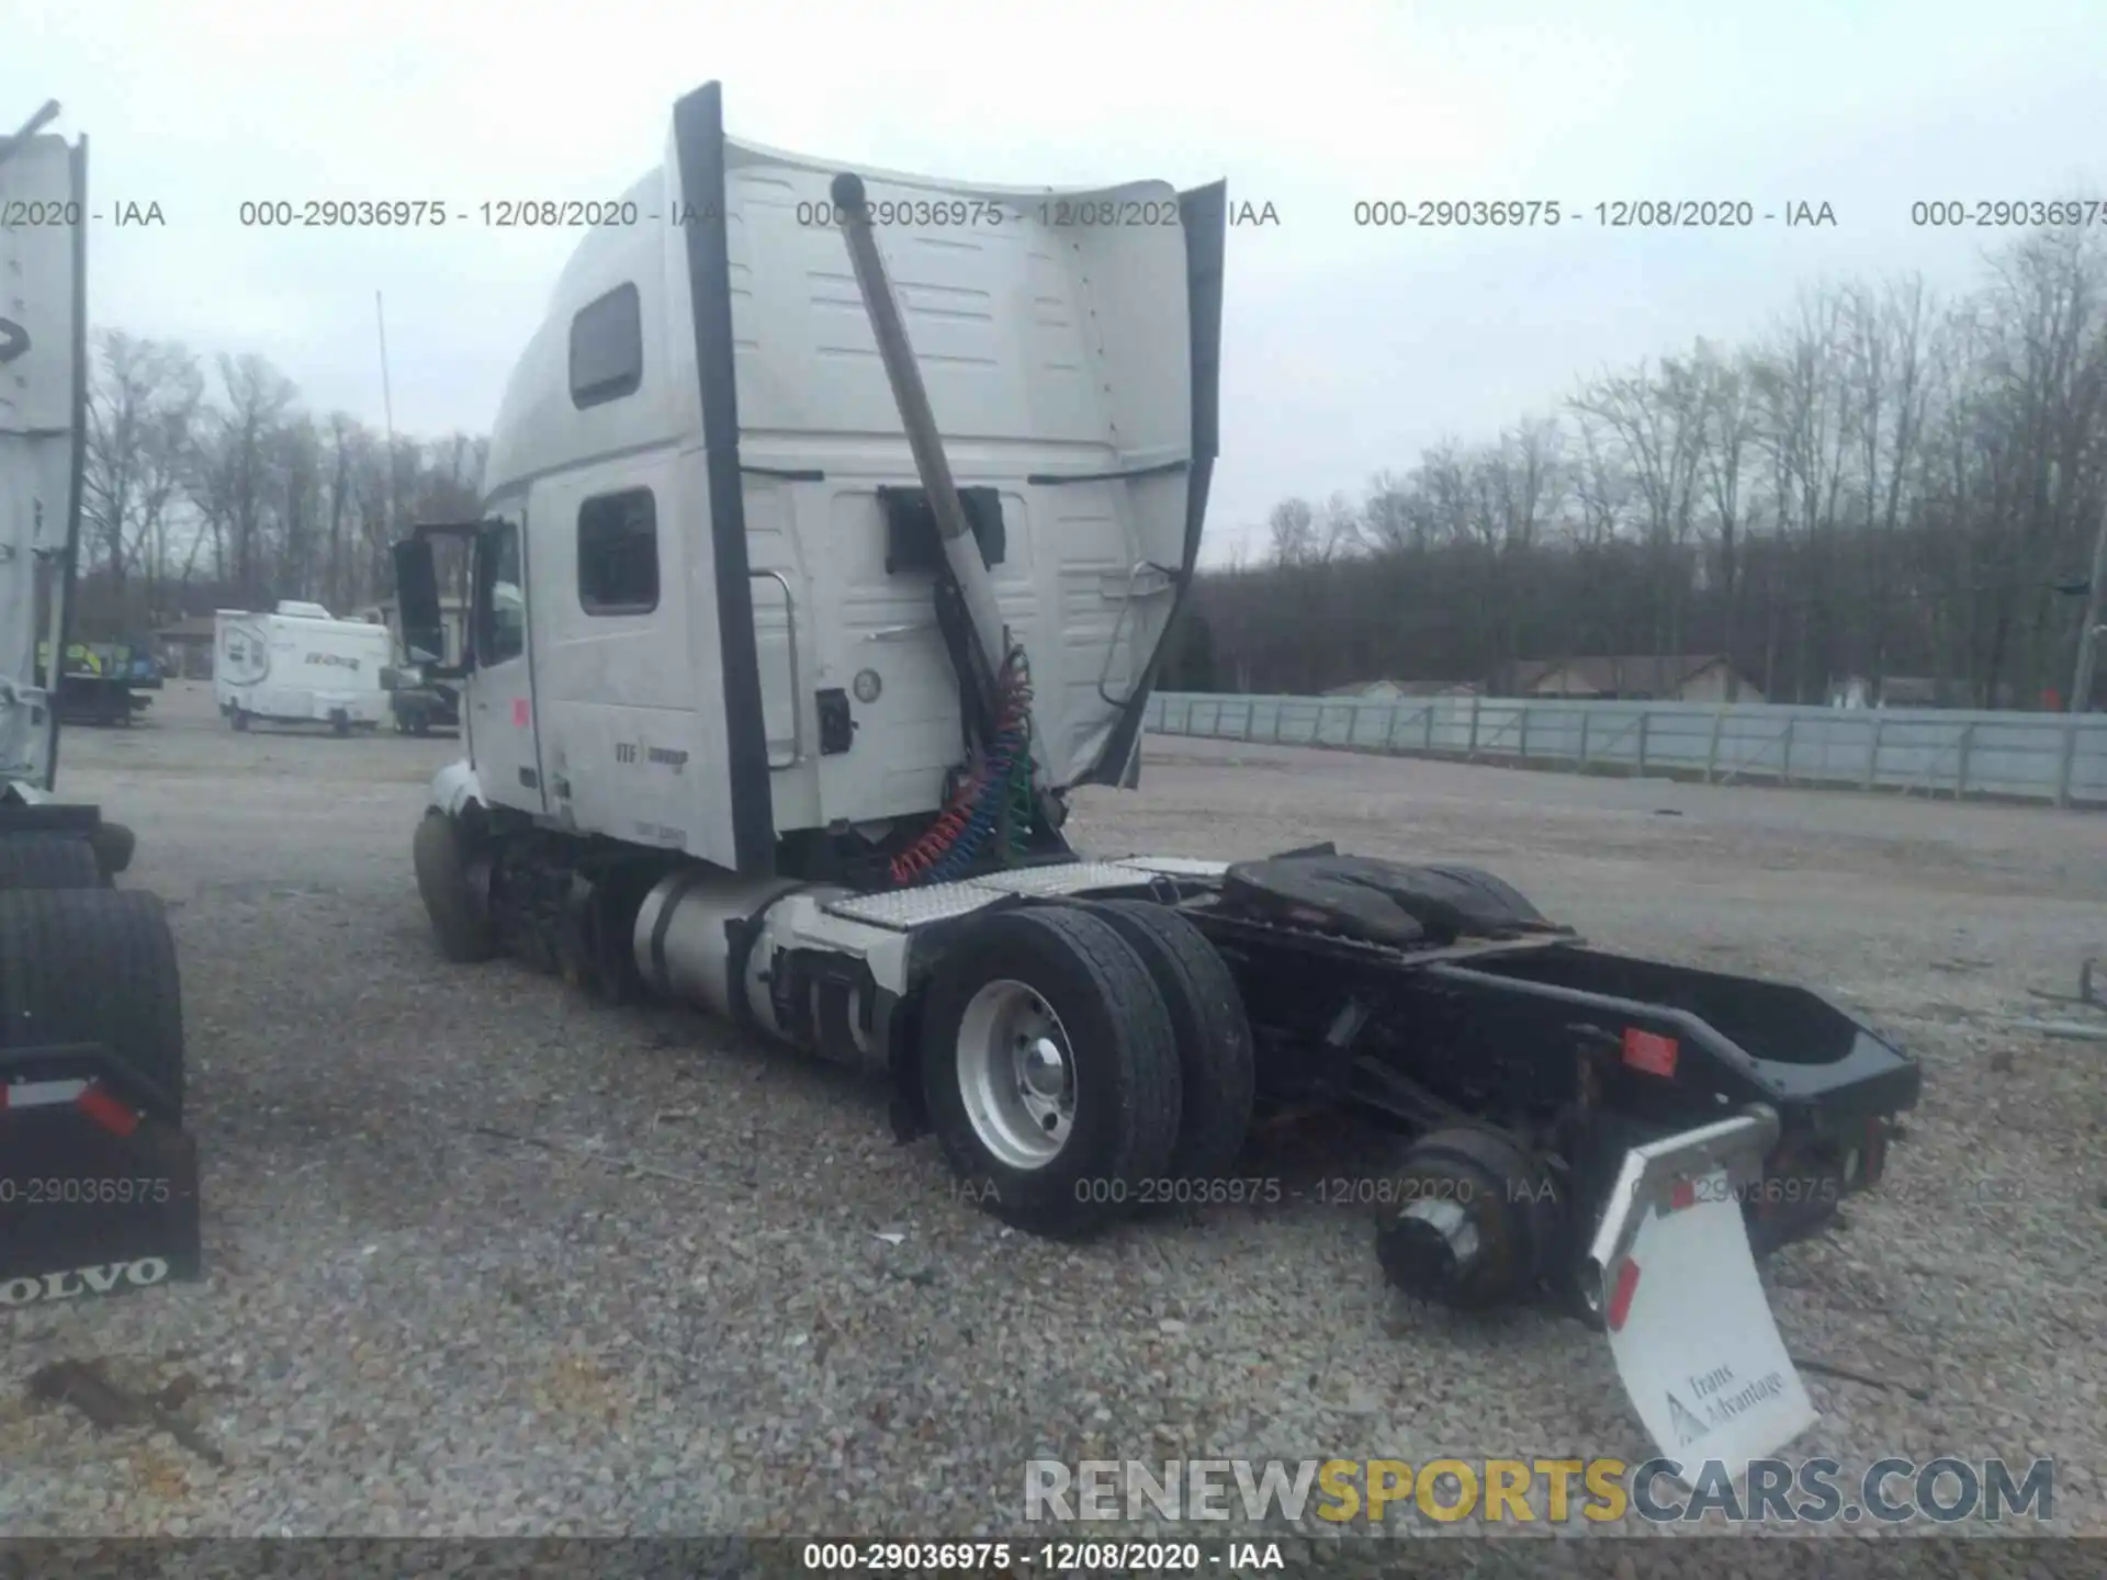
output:
[[[183,990],[145,889],[0,893],[0,1045],[101,1043],[183,1119]]]

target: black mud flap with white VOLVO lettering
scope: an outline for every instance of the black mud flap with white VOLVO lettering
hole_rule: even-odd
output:
[[[202,1277],[196,1142],[99,1047],[0,1060],[0,1312]]]

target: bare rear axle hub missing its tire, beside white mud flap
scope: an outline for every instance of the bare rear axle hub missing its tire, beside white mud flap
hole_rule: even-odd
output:
[[[1376,1226],[1376,1258],[1416,1300],[1488,1310],[1563,1272],[1563,1201],[1513,1135],[1458,1125],[1414,1142]]]

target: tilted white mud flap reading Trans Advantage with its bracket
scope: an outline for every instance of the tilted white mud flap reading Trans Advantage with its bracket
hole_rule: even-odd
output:
[[[1740,1211],[1776,1135],[1757,1110],[1635,1146],[1589,1245],[1584,1296],[1624,1395],[1690,1485],[1713,1462],[1738,1481],[1814,1424]]]

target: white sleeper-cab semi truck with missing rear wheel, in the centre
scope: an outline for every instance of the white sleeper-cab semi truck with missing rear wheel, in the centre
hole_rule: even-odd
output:
[[[1089,857],[1218,447],[1226,190],[851,171],[674,107],[497,415],[483,516],[396,546],[464,761],[413,843],[455,961],[685,999],[872,1072],[965,1192],[1075,1235],[1228,1201],[1254,1114],[1410,1133],[1376,1247],[1610,1334],[1662,1451],[1812,1420],[1755,1251],[1875,1186],[1917,1066],[1816,994],[1589,948],[1504,881],[1332,847]],[[1686,1416],[1719,1409],[1675,1403]]]

